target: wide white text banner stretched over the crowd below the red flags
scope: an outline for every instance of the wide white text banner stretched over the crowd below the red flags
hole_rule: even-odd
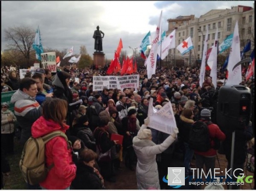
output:
[[[93,77],[93,91],[102,91],[104,88],[123,90],[123,88],[138,88],[139,75],[125,75],[125,76],[94,76]]]

